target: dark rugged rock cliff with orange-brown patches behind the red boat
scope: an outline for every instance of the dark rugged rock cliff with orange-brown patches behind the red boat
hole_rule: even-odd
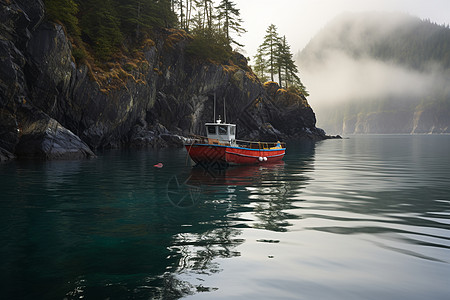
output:
[[[214,97],[217,112],[226,103],[240,139],[326,137],[306,99],[262,85],[239,54],[228,65],[199,60],[185,51],[189,35],[166,30],[139,59],[99,73],[74,62],[64,28],[45,21],[41,0],[0,0],[0,6],[2,160],[180,145],[183,136],[204,134]]]

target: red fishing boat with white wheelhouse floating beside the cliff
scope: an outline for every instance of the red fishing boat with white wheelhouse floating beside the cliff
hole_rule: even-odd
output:
[[[245,165],[276,162],[283,159],[284,143],[236,140],[236,125],[206,123],[206,137],[194,137],[185,145],[197,164]]]

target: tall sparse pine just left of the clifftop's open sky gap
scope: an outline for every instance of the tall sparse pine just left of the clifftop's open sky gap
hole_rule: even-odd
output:
[[[246,30],[242,27],[242,19],[240,18],[239,9],[236,8],[236,4],[230,0],[222,0],[219,6],[216,7],[218,11],[218,18],[220,21],[223,20],[223,31],[225,32],[225,36],[227,38],[228,43],[236,44],[240,47],[243,47],[242,44],[238,43],[236,40],[232,39],[230,36],[230,32],[235,32],[238,36],[241,33],[246,32]]]

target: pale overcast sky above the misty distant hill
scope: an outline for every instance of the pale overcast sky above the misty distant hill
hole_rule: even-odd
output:
[[[217,2],[218,0],[216,0]],[[295,54],[335,16],[343,12],[403,12],[450,24],[450,0],[234,0],[247,33],[238,41],[245,45],[244,55],[253,59],[267,27],[273,23],[286,35]]]

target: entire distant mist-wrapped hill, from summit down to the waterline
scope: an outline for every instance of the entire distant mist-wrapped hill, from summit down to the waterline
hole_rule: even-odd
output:
[[[297,60],[328,132],[450,131],[448,25],[398,13],[347,13]]]

